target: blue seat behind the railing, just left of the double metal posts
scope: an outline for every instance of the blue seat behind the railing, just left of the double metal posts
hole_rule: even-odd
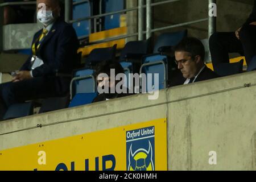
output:
[[[101,0],[100,6],[103,13],[111,13],[113,11],[123,10],[125,7],[124,0]],[[104,18],[104,30],[110,30],[112,28],[120,27],[120,15],[114,14],[105,16]]]

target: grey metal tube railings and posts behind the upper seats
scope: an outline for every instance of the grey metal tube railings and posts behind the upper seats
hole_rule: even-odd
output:
[[[146,5],[144,2],[146,1]],[[156,31],[162,31],[162,30],[167,30],[171,28],[176,28],[176,27],[181,27],[181,26],[186,26],[189,24],[194,24],[194,23],[199,23],[199,22],[205,22],[208,20],[208,34],[209,36],[213,34],[213,32],[216,31],[216,17],[206,17],[202,19],[197,19],[189,22],[184,22],[184,23],[179,23],[179,24],[174,24],[171,26],[166,26],[166,27],[160,27],[160,28],[154,28],[152,26],[153,22],[153,17],[152,17],[152,8],[158,5],[164,5],[166,3],[171,3],[171,2],[177,2],[181,0],[165,0],[165,1],[160,1],[160,2],[155,2],[152,3],[152,0],[138,0],[138,6],[137,7],[131,7],[129,9],[125,10],[119,10],[119,11],[114,11],[111,13],[104,13],[100,15],[94,15],[86,18],[79,18],[79,19],[72,19],[72,10],[73,10],[73,5],[79,5],[84,2],[88,2],[88,0],[81,0],[79,2],[74,2],[72,0],[65,0],[65,21],[68,23],[75,23],[75,22],[80,22],[82,20],[92,20],[92,19],[97,19],[97,18],[102,18],[108,15],[114,15],[114,14],[121,14],[121,13],[127,13],[129,11],[138,11],[138,32],[135,32],[133,34],[127,34],[123,36],[117,36],[115,38],[109,38],[105,39],[102,41],[97,41],[97,42],[92,42],[92,44],[97,44],[97,43],[102,43],[102,42],[109,42],[110,40],[119,40],[119,39],[125,39],[125,38],[130,38],[133,36],[138,36],[138,40],[143,40],[144,35],[146,34],[146,38],[149,38],[152,33]],[[185,0],[183,0],[185,1]],[[0,0],[1,2],[1,0]],[[216,3],[216,0],[208,0],[209,3]],[[36,4],[36,1],[33,2],[6,2],[6,3],[0,3],[0,9],[3,6],[8,6],[8,5],[31,5],[31,4]],[[210,8],[210,7],[209,7]],[[146,9],[146,22],[144,18],[144,10]],[[1,12],[1,11],[0,11]],[[1,13],[2,14],[2,13]],[[1,15],[0,15],[1,18]],[[94,20],[95,22],[95,20]],[[146,30],[144,30],[144,24],[146,23]],[[95,24],[95,23],[94,23]],[[1,44],[2,44],[2,23],[0,20],[0,51],[1,49]],[[82,38],[82,37],[81,37]]]

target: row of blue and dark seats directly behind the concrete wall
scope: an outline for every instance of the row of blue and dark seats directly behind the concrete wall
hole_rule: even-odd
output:
[[[159,89],[168,87],[168,82],[172,79],[172,73],[177,69],[173,55],[170,55],[170,48],[175,46],[187,36],[187,30],[180,32],[164,33],[158,37],[151,51],[151,40],[128,42],[122,49],[119,63],[129,77],[129,73],[159,74]],[[109,48],[96,48],[90,52],[86,59],[85,67],[73,72],[73,79],[70,86],[70,96],[61,98],[48,98],[42,101],[39,113],[64,109],[66,107],[75,107],[90,104],[97,96],[96,77],[94,75],[95,66],[103,60],[114,60],[116,57],[116,45]],[[242,61],[227,64],[221,68],[223,75],[232,75],[242,72]],[[256,69],[256,56],[247,71]],[[127,84],[127,83],[126,83]],[[155,90],[155,80],[152,80],[152,88],[146,90],[150,92]],[[127,84],[127,87],[130,85]],[[146,87],[147,88],[147,87]],[[22,108],[22,109],[20,109]],[[4,119],[18,118],[33,114],[34,102],[25,104],[16,104],[9,108]]]

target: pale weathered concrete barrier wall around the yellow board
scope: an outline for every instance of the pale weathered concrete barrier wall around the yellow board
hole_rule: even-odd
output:
[[[158,100],[138,94],[0,122],[0,151],[167,118],[169,170],[254,170],[255,85],[255,72],[243,73],[160,90]]]

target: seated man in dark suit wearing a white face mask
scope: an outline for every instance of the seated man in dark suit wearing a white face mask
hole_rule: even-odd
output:
[[[38,20],[44,27],[34,35],[33,55],[14,75],[13,81],[0,85],[0,119],[12,104],[63,96],[69,90],[71,78],[66,76],[71,75],[78,58],[76,32],[59,18],[58,0],[38,0],[37,5]],[[38,59],[35,61],[33,56]]]

